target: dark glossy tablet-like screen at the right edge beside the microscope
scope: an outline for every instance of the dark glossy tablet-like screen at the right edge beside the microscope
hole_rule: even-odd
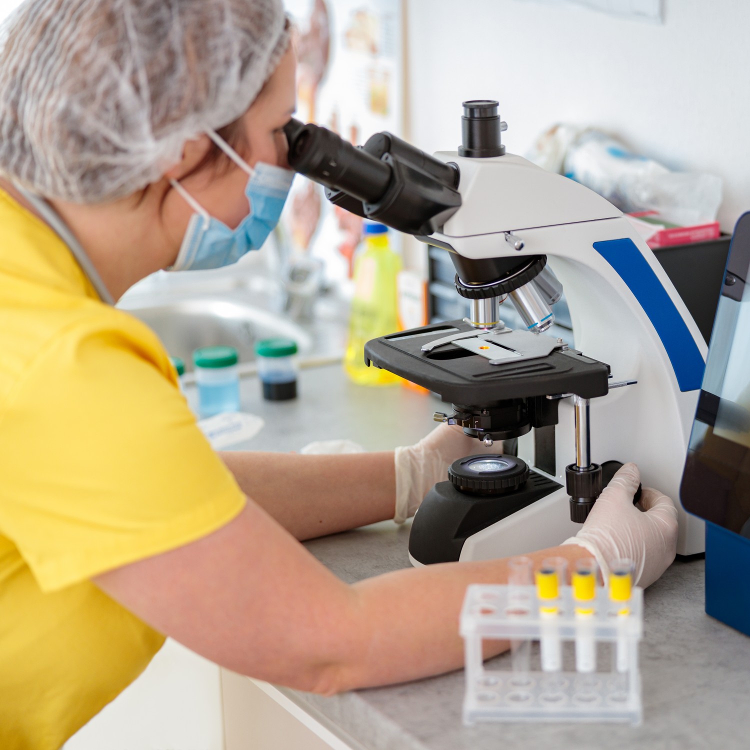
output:
[[[729,249],[682,474],[686,510],[750,538],[750,213]]]

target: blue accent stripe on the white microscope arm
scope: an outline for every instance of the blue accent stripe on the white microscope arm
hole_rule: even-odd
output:
[[[700,350],[661,286],[661,281],[631,239],[595,242],[594,249],[619,274],[656,329],[667,350],[680,391],[694,391],[703,383],[706,363]]]

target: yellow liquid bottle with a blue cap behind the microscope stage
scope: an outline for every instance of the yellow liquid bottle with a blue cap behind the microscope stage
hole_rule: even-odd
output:
[[[365,222],[365,248],[354,266],[354,298],[344,368],[362,386],[392,386],[401,378],[365,365],[365,344],[398,331],[396,277],[401,270],[385,224]]]

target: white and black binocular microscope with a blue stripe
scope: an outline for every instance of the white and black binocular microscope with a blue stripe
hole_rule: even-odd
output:
[[[449,252],[463,320],[369,341],[385,368],[450,404],[434,419],[486,447],[455,463],[410,531],[415,565],[490,559],[574,535],[622,462],[675,502],[706,343],[646,243],[583,185],[505,153],[496,101],[466,101],[458,151],[390,133],[354,147],[293,120],[289,162],[353,213]],[[549,334],[565,290],[574,348]],[[502,305],[525,329],[502,322]],[[637,501],[637,497],[636,497]],[[677,552],[703,551],[678,505]]]

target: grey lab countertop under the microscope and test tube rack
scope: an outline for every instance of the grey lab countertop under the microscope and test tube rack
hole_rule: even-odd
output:
[[[433,396],[402,386],[355,386],[340,366],[302,371],[299,393],[296,401],[263,401],[260,383],[243,379],[243,410],[262,416],[266,426],[239,447],[299,451],[313,440],[348,438],[368,450],[392,449],[427,434],[433,426],[432,413],[441,408]],[[305,546],[338,577],[353,583],[410,566],[409,526],[385,521],[308,541]],[[640,727],[562,723],[465,727],[463,670],[334,697],[280,689],[353,750],[747,748],[750,638],[703,611],[703,568],[703,559],[678,559],[646,591]]]

